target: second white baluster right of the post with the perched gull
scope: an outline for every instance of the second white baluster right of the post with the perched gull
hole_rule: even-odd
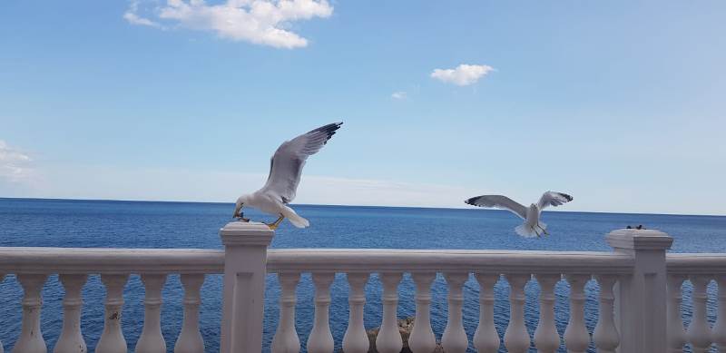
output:
[[[308,338],[310,353],[331,353],[333,351],[333,334],[330,333],[329,307],[330,284],[335,273],[313,273],[315,284],[315,321]]]

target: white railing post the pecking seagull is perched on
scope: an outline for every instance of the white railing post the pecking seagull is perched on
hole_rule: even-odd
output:
[[[232,221],[220,230],[224,245],[221,353],[262,350],[267,247],[274,234],[257,222]]]

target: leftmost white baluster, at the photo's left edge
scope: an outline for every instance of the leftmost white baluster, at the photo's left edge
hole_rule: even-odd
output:
[[[20,338],[15,342],[13,352],[16,353],[45,353],[45,341],[40,330],[40,310],[43,307],[41,290],[47,275],[23,274],[17,280],[23,286],[23,322],[20,329]]]

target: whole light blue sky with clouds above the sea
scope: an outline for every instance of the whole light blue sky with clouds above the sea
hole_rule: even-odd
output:
[[[726,214],[723,18],[720,1],[4,1],[0,196],[233,201],[280,142],[342,120],[296,202],[554,190],[568,211]]]

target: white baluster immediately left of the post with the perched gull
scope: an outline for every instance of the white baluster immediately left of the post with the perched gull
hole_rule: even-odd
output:
[[[174,353],[204,353],[204,338],[199,331],[200,290],[204,284],[202,274],[182,274],[184,286],[184,319],[182,332],[174,345]]]

